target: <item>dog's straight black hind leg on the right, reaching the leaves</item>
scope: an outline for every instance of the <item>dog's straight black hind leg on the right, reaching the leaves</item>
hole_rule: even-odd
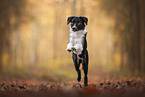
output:
[[[83,55],[84,86],[88,86],[88,51]]]

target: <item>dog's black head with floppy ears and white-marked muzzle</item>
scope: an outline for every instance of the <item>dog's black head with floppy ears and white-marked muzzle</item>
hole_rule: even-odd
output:
[[[67,24],[71,23],[71,28],[72,30],[75,31],[79,31],[79,30],[84,30],[85,29],[85,25],[87,25],[88,23],[88,18],[86,17],[77,17],[77,16],[71,16],[68,17],[67,19]]]

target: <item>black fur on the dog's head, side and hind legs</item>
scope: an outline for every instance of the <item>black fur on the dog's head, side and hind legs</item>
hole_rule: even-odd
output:
[[[84,30],[85,24],[87,25],[88,19],[86,17],[81,17],[81,16],[80,17],[72,16],[68,18],[67,24],[69,24],[70,22],[71,22],[71,27],[76,25],[76,28],[73,29],[73,31],[79,31],[79,30]],[[86,36],[87,34],[85,34],[85,37],[83,39],[82,54],[77,55],[74,52],[72,52],[72,59],[73,59],[74,66],[78,74],[78,78],[77,78],[78,82],[81,81],[81,70],[79,69],[79,67],[80,67],[80,64],[82,63],[82,69],[84,71],[84,86],[88,85],[87,74],[88,74],[88,61],[89,61]]]

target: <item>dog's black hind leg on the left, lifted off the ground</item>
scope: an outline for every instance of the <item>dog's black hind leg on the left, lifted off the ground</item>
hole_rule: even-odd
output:
[[[77,54],[75,54],[75,53],[73,53],[72,59],[73,59],[74,66],[75,66],[75,69],[78,74],[77,81],[80,82],[81,81],[81,70],[79,69],[79,67],[80,67],[81,61],[80,61],[80,59],[77,58]]]

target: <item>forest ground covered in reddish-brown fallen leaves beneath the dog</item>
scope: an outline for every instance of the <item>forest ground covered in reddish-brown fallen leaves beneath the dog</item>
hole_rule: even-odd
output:
[[[26,79],[0,81],[0,97],[145,97],[143,78],[102,78],[90,81],[49,82]]]

